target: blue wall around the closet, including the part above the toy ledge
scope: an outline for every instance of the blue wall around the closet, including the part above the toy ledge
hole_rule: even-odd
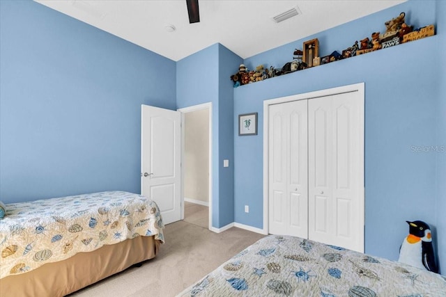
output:
[[[284,65],[311,38],[319,38],[321,55],[341,51],[384,31],[384,22],[401,11],[409,24],[436,23],[436,2],[409,1],[247,58],[245,64],[250,69]],[[406,220],[436,225],[436,156],[410,147],[436,142],[438,40],[433,36],[236,88],[233,122],[240,113],[259,113],[258,136],[238,137],[236,127],[233,131],[236,222],[263,228],[263,100],[365,82],[365,250],[397,259],[408,234]],[[245,204],[249,214],[243,212]]]

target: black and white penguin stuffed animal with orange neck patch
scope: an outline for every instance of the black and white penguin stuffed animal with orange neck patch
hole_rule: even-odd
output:
[[[422,220],[413,222],[406,220],[406,222],[409,224],[409,235],[399,248],[398,261],[438,273],[433,254],[431,228]]]

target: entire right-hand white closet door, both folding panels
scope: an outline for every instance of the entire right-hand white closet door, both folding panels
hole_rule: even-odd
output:
[[[309,239],[364,252],[364,102],[308,103]]]

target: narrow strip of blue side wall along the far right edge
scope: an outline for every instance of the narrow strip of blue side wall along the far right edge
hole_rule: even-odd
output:
[[[442,17],[440,17],[440,15]],[[438,96],[437,109],[437,141],[433,145],[440,147],[440,152],[436,153],[437,157],[437,236],[438,236],[438,259],[440,260],[440,271],[446,275],[446,1],[437,2],[437,19],[438,19],[438,53],[440,61],[437,67],[438,81],[440,93]]]

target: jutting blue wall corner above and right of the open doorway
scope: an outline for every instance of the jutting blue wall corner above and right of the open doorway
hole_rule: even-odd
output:
[[[233,65],[242,59],[220,44],[187,56],[177,62],[178,109],[213,104],[213,227],[233,223],[233,87],[229,77]],[[230,167],[223,167],[229,159]]]

